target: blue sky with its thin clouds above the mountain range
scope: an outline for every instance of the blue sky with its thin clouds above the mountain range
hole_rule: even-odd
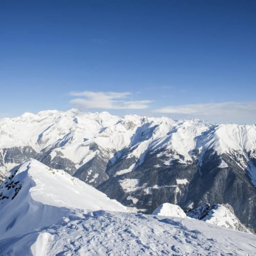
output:
[[[0,117],[256,123],[256,1],[0,3]]]

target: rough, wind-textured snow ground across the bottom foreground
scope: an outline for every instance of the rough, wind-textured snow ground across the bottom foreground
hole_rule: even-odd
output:
[[[191,219],[74,210],[53,225],[0,241],[0,254],[253,255],[255,239],[252,234]]]

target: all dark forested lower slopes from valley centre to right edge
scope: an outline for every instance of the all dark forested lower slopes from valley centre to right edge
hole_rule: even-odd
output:
[[[148,214],[165,202],[178,204],[184,210],[191,202],[193,207],[228,203],[242,223],[256,228],[256,188],[246,169],[240,166],[243,156],[239,152],[218,156],[214,151],[206,151],[200,166],[196,159],[190,164],[174,161],[166,166],[163,164],[166,157],[157,157],[159,153],[148,152],[132,172],[113,176],[113,170],[127,168],[129,159],[120,159],[111,166],[111,172],[107,170],[112,176],[97,188],[124,205],[135,206]],[[222,160],[227,167],[219,167]],[[133,179],[139,181],[137,188],[125,191],[122,181]],[[187,182],[177,184],[177,180]]]

